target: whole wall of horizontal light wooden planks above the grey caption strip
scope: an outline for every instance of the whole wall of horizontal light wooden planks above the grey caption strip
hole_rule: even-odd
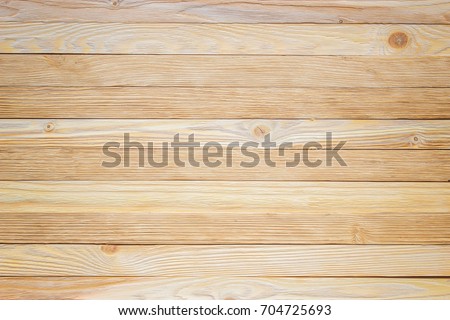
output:
[[[0,53],[0,299],[450,298],[448,1],[0,0]],[[101,166],[326,131],[348,167]]]

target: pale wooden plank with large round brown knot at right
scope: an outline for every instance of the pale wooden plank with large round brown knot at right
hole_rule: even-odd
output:
[[[0,22],[0,53],[450,55],[448,25]]]

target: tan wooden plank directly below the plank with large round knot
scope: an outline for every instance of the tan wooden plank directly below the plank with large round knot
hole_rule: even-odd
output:
[[[448,87],[449,57],[0,56],[0,86]]]

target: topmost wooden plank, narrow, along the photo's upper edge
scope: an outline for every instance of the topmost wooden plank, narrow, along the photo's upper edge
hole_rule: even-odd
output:
[[[440,0],[189,0],[99,2],[55,0],[3,2],[1,21],[64,22],[275,22],[275,23],[449,23]]]

